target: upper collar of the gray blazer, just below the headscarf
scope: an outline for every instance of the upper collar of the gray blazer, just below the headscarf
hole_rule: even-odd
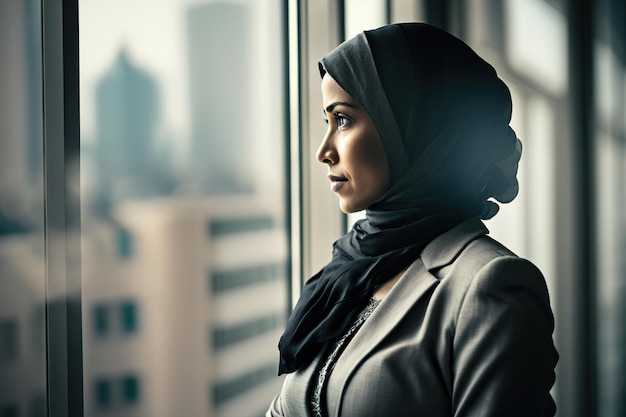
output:
[[[489,233],[477,217],[466,220],[430,242],[420,255],[426,269],[433,271],[450,265],[472,241]]]

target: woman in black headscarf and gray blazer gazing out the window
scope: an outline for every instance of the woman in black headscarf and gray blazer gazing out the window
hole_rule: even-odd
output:
[[[320,63],[318,160],[366,218],[304,286],[267,416],[552,416],[544,279],[481,222],[518,191],[495,70],[454,36],[396,24]]]

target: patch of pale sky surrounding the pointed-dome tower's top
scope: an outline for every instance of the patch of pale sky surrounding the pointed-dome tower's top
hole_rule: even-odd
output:
[[[94,135],[95,83],[124,48],[131,61],[156,77],[161,87],[164,125],[187,136],[188,99],[184,13],[186,0],[81,0],[81,129]]]

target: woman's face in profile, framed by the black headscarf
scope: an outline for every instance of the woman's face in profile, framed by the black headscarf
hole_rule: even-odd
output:
[[[344,213],[378,201],[389,187],[389,164],[378,131],[369,116],[329,75],[322,79],[328,129],[317,160],[328,165],[330,189]]]

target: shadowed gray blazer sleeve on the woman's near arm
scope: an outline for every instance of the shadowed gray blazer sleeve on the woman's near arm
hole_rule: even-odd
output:
[[[454,416],[553,416],[553,330],[546,284],[532,263],[503,256],[482,267],[456,319]]]

